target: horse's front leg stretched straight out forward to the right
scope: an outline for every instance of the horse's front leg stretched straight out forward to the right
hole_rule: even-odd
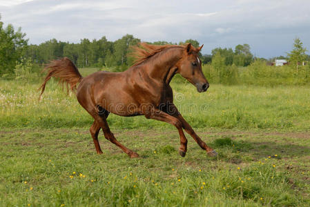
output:
[[[191,127],[191,125],[189,125],[187,123],[187,121],[182,117],[180,112],[177,110],[177,107],[173,103],[168,104],[166,109],[167,109],[166,111],[168,114],[172,115],[173,117],[175,117],[179,121],[181,121],[182,127],[188,133],[188,135],[191,135],[191,137],[193,137],[193,139],[197,142],[197,144],[203,150],[206,150],[206,153],[209,156],[211,156],[211,157],[217,156],[217,152],[215,150],[213,150],[211,147],[207,146],[206,143],[204,143],[204,141],[202,141],[202,139],[200,139],[200,137],[196,134],[196,132]]]

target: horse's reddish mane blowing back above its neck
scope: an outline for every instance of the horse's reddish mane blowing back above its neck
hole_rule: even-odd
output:
[[[133,52],[130,53],[130,57],[133,57],[133,66],[139,65],[149,57],[152,57],[158,52],[162,52],[162,50],[166,48],[173,48],[173,47],[182,47],[185,48],[186,46],[175,46],[175,45],[164,45],[164,46],[156,46],[151,45],[145,42],[138,43],[137,46],[133,46]]]

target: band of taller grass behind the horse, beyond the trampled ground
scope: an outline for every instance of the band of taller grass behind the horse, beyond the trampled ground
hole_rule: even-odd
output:
[[[0,81],[0,127],[89,127],[93,119],[75,95],[48,83],[38,101],[39,83]],[[198,93],[190,83],[171,84],[175,105],[194,128],[309,130],[310,96],[307,86],[224,86],[211,84]],[[145,117],[108,117],[117,128],[172,128]]]

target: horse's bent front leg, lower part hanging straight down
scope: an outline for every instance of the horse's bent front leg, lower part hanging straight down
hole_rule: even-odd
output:
[[[156,108],[153,108],[153,110],[151,110],[150,112],[147,112],[145,117],[147,119],[155,119],[158,121],[165,121],[165,122],[175,126],[177,128],[177,130],[179,131],[179,135],[180,135],[181,146],[179,149],[179,153],[182,157],[184,157],[186,155],[187,139],[186,139],[184,132],[183,132],[183,129],[182,129],[182,122],[179,119],[177,119],[176,117],[173,117],[171,115],[168,115],[166,112],[163,112],[162,110],[158,110]]]

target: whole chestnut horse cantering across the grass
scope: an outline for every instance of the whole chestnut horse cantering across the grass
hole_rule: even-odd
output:
[[[202,45],[203,46],[203,45]],[[185,121],[173,104],[173,90],[169,85],[176,73],[196,86],[198,92],[209,88],[202,72],[202,62],[198,57],[200,48],[188,43],[186,46],[154,46],[140,43],[133,52],[135,63],[124,72],[95,72],[81,77],[77,67],[64,57],[51,61],[46,70],[48,75],[41,85],[41,95],[51,77],[76,90],[77,101],[95,119],[90,127],[97,154],[102,154],[98,133],[100,128],[104,137],[121,148],[130,157],[139,157],[136,152],[126,148],[115,139],[106,119],[110,112],[124,117],[144,115],[146,119],[165,121],[177,128],[180,135],[180,155],[184,157],[187,139],[183,129],[210,156],[217,152],[207,146]],[[77,84],[79,83],[79,86]],[[40,97],[41,97],[40,95]]]

